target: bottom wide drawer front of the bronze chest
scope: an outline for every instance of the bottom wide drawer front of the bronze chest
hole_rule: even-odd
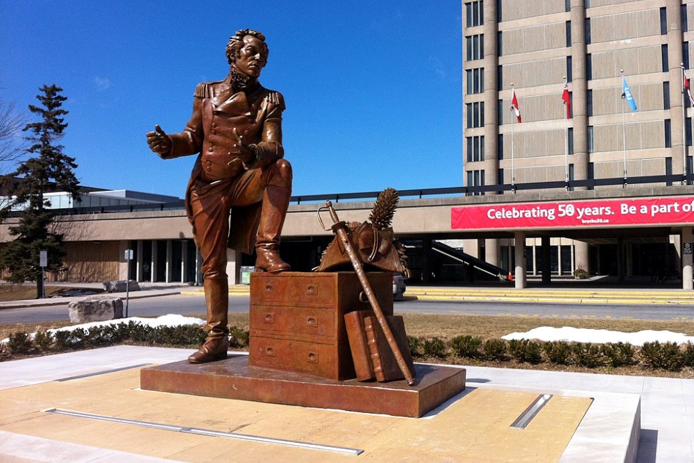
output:
[[[338,378],[337,348],[330,344],[256,336],[251,339],[248,363],[310,373],[321,378]]]

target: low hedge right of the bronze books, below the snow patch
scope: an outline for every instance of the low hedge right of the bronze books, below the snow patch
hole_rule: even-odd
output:
[[[672,342],[646,342],[637,348],[624,342],[591,344],[585,342],[541,342],[530,339],[482,339],[477,336],[456,336],[445,342],[433,337],[424,339],[408,336],[414,357],[455,357],[506,362],[579,367],[629,367],[642,363],[645,367],[678,371],[694,367],[694,344],[680,347]]]

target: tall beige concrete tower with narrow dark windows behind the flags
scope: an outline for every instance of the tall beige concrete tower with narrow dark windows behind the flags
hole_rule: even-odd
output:
[[[462,18],[465,185],[623,177],[625,185],[595,188],[639,190],[629,178],[691,172],[682,69],[692,77],[693,2],[464,0]],[[636,112],[621,98],[622,75]],[[510,111],[512,89],[520,124]],[[597,271],[587,242],[568,245],[571,271]],[[509,246],[466,243],[498,265]]]

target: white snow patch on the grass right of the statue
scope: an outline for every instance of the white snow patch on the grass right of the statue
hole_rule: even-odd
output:
[[[694,344],[694,336],[682,332],[643,330],[638,332],[622,332],[611,330],[593,330],[589,328],[553,328],[540,326],[527,332],[512,332],[502,339],[538,339],[539,341],[592,342],[605,344],[608,342],[624,342],[634,346],[643,346],[645,342],[675,342],[677,344]]]

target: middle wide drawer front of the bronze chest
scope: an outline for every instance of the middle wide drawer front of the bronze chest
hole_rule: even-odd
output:
[[[310,307],[251,305],[251,330],[330,338],[337,336],[335,311]]]

